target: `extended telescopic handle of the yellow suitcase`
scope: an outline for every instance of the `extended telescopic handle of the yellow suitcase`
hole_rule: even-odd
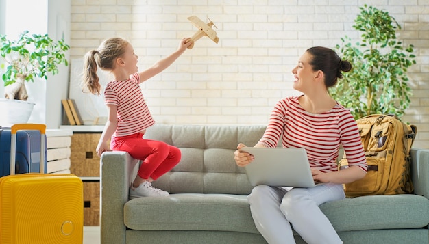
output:
[[[15,174],[16,159],[16,132],[19,130],[38,130],[40,131],[40,173],[45,172],[45,133],[46,124],[14,124],[10,128],[10,175]]]

